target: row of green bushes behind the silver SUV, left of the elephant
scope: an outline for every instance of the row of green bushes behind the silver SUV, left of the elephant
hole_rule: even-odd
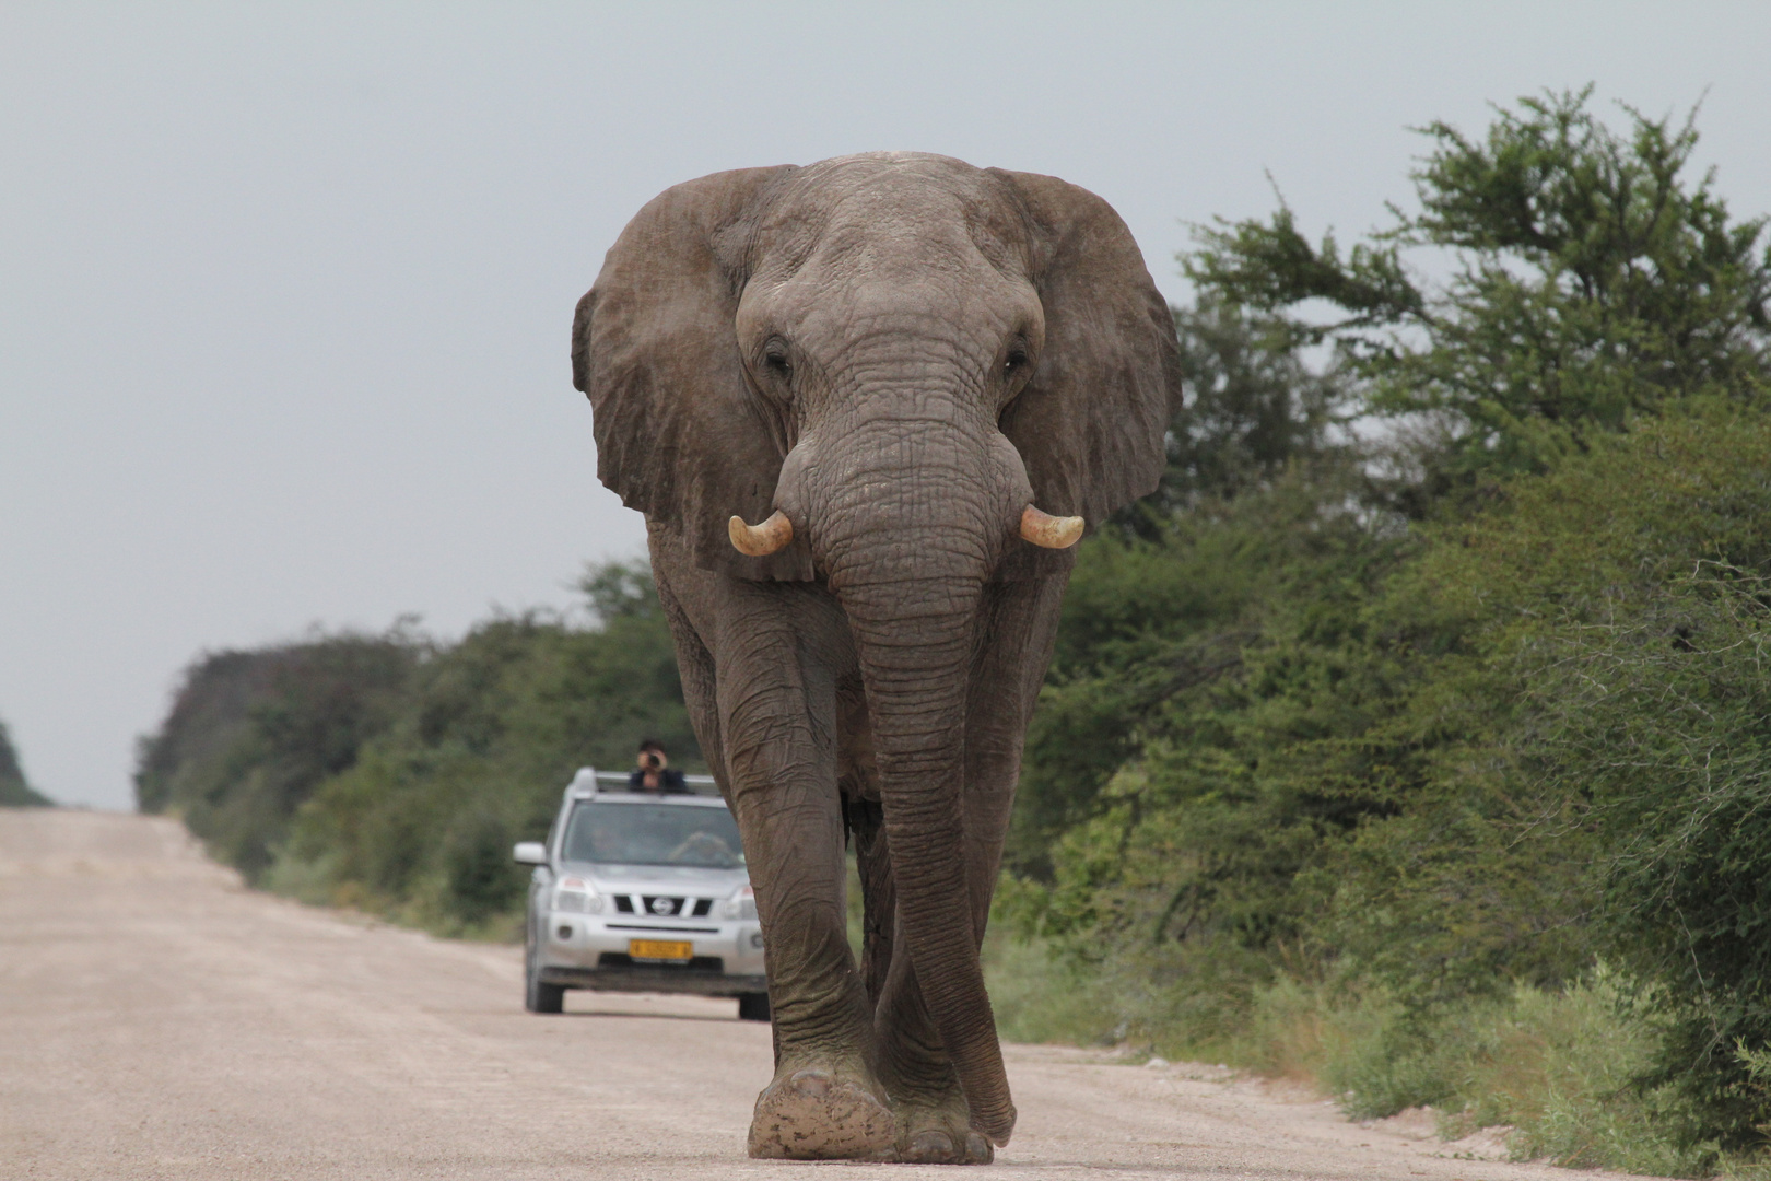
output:
[[[142,809],[271,889],[505,931],[510,845],[545,834],[577,767],[627,767],[657,737],[700,768],[645,565],[581,588],[588,618],[496,618],[453,645],[395,630],[204,657],[142,742]]]

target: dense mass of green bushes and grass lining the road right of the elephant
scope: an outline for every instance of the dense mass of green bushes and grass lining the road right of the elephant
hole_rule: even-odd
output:
[[[1109,678],[1169,691],[1073,804],[1050,873],[1004,884],[1025,954],[1075,976],[1015,986],[1011,1027],[1064,1029],[1020,1015],[1089,997],[1071,1030],[1309,1075],[1360,1115],[1502,1121],[1502,1075],[1537,1069],[1562,1082],[1502,1121],[1534,1153],[1746,1160],[1771,1124],[1752,1066],[1771,1046],[1767,455],[1771,418],[1697,407],[1411,540],[1263,510],[1300,496],[1280,483],[1162,542],[1091,542],[1079,577],[1102,600],[1174,593],[1160,568],[1250,588],[1218,613],[1245,639],[1181,683],[1153,629],[1126,643],[1091,611],[1071,632],[1130,653]],[[1599,960],[1651,1000],[1603,1034],[1628,1054],[1587,1062],[1553,1025],[1608,1029]],[[1537,1022],[1535,1068],[1505,1022]]]

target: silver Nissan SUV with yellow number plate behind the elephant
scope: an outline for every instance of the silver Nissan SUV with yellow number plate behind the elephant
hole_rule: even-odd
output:
[[[560,1013],[567,988],[737,997],[769,1020],[763,933],[739,825],[707,776],[691,795],[574,776],[547,841],[522,841],[530,875],[524,1006]]]

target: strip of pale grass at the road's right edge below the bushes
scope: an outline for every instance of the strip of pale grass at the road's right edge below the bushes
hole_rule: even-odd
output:
[[[1231,1062],[1311,1085],[1358,1119],[1431,1107],[1447,1140],[1509,1130],[1516,1160],[1771,1181],[1764,1158],[1723,1158],[1675,1140],[1674,1098],[1635,1082],[1659,1038],[1654,999],[1603,967],[1560,992],[1518,986],[1431,1020],[1383,997],[1350,999],[1284,977],[1240,1002],[1164,999],[1004,933],[986,940],[985,970],[997,1023],[1017,1041]],[[1187,1020],[1199,1013],[1236,1016],[1206,1030]],[[1162,1015],[1183,1020],[1164,1027]]]

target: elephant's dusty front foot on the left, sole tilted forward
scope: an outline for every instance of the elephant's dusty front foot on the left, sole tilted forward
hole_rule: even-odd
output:
[[[756,1096],[751,1156],[762,1160],[894,1160],[898,1128],[873,1091],[827,1069],[777,1077]]]

